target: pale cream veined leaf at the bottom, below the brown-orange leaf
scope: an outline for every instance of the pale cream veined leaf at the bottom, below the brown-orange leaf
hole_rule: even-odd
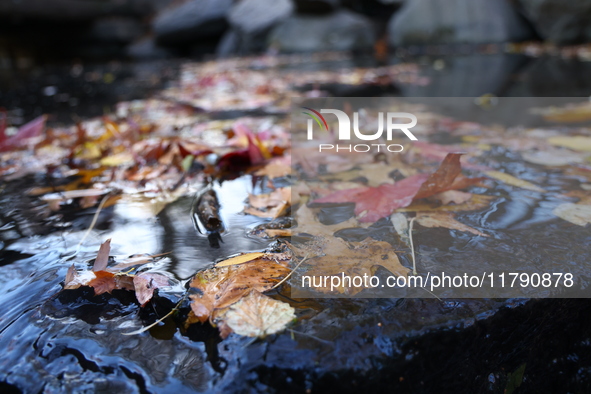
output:
[[[222,317],[236,334],[259,338],[282,331],[294,319],[295,310],[289,304],[258,291],[251,291]]]

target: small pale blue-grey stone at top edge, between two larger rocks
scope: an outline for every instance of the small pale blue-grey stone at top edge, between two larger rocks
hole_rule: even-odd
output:
[[[291,0],[242,0],[232,7],[228,21],[241,32],[255,33],[286,19],[293,10]]]

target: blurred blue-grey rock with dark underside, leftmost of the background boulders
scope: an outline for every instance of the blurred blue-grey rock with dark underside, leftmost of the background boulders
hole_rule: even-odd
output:
[[[153,22],[156,41],[162,45],[191,44],[219,37],[227,29],[226,17],[233,0],[189,0],[162,11]]]

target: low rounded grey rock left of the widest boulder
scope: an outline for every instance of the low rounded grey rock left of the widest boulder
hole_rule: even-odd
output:
[[[375,40],[372,22],[350,11],[326,16],[294,15],[279,24],[269,47],[280,52],[370,50]]]

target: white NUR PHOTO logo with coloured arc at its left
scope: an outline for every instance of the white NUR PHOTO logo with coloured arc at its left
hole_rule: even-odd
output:
[[[417,137],[409,129],[417,125],[417,117],[408,112],[387,112],[384,116],[383,112],[378,113],[378,130],[373,134],[365,134],[359,130],[359,112],[353,113],[353,127],[351,127],[351,119],[349,115],[338,109],[321,109],[316,111],[310,107],[302,107],[305,115],[310,116],[308,119],[308,140],[314,139],[314,122],[318,125],[321,131],[329,131],[328,122],[322,114],[332,114],[336,116],[338,122],[337,137],[339,141],[351,141],[351,129],[355,138],[361,141],[376,141],[382,138],[384,134],[384,117],[386,118],[386,140],[391,141],[394,131],[402,131],[411,141],[417,141]],[[408,123],[399,123],[401,119],[410,119]],[[381,150],[380,150],[381,149]],[[404,147],[400,144],[319,144],[318,151],[348,151],[348,152],[369,152],[369,151],[388,151],[388,152],[402,152]]]

